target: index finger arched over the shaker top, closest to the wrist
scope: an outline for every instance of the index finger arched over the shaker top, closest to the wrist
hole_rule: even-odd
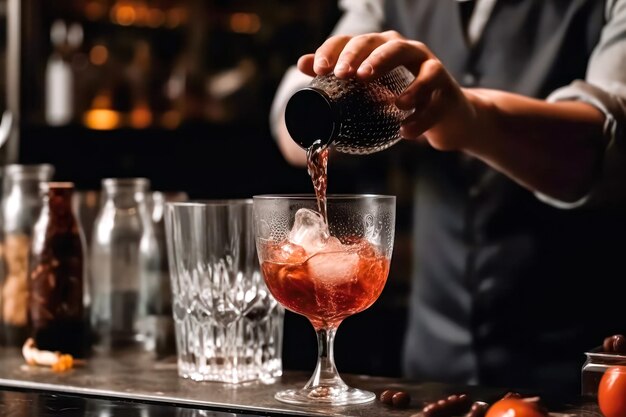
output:
[[[399,65],[417,74],[422,62],[430,58],[434,55],[423,43],[395,39],[373,50],[359,66],[357,76],[363,80],[376,78]]]

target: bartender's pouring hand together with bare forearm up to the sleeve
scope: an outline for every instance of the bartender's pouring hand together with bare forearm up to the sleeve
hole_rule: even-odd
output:
[[[298,61],[311,76],[334,72],[364,81],[399,65],[415,75],[396,100],[415,110],[402,125],[404,138],[423,136],[436,149],[463,151],[564,202],[589,192],[605,139],[604,114],[588,103],[461,88],[426,45],[393,31],[334,36]]]

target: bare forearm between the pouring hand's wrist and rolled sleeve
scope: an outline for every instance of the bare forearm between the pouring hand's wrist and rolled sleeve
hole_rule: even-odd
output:
[[[495,90],[463,90],[475,114],[461,149],[521,185],[561,201],[589,191],[603,146],[604,115],[574,101],[543,100]]]

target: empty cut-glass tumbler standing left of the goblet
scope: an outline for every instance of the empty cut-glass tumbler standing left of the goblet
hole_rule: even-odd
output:
[[[239,383],[282,374],[283,308],[261,277],[251,200],[166,203],[178,374]]]

